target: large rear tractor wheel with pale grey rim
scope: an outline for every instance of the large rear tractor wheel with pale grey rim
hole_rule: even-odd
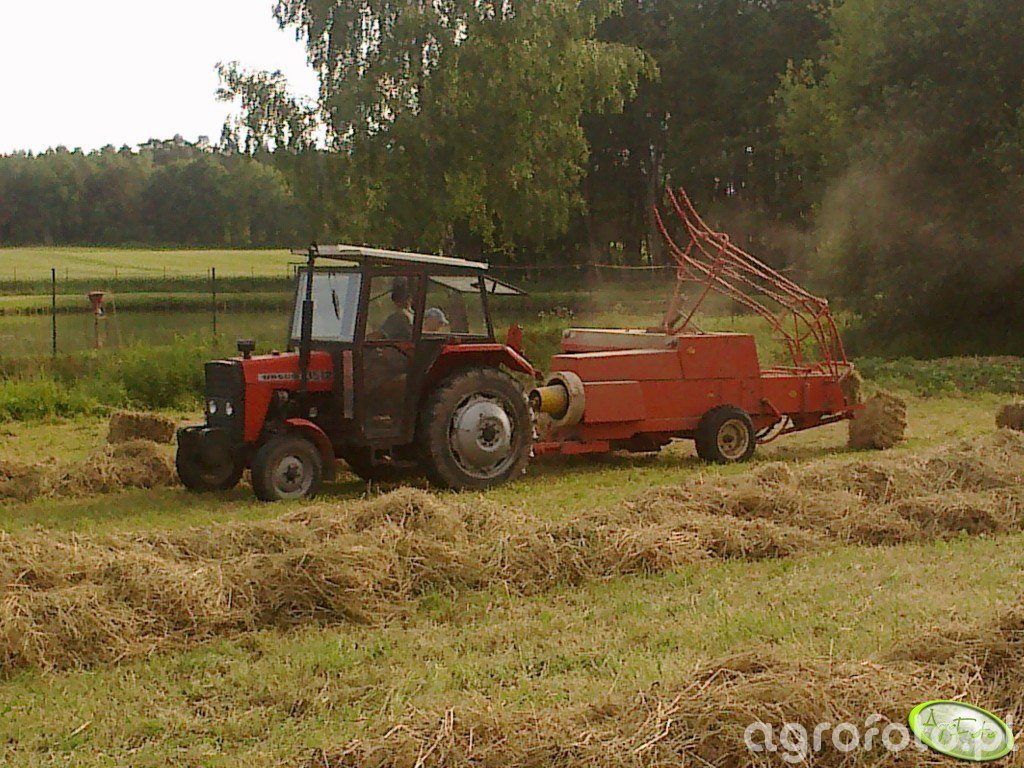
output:
[[[529,463],[532,421],[526,397],[503,371],[460,372],[427,397],[417,439],[435,485],[456,490],[500,485]]]

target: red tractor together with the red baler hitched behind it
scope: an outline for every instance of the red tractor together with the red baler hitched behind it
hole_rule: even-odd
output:
[[[512,374],[541,374],[521,331],[495,340],[488,303],[521,292],[486,264],[313,247],[290,351],[253,356],[240,342],[241,357],[207,365],[206,424],[178,432],[182,482],[226,489],[250,468],[260,499],[299,499],[341,459],[366,479],[422,470],[437,485],[479,489],[522,474],[531,455],[692,439],[706,461],[741,462],[759,442],[852,419],[859,377],[827,302],[711,230],[685,193],[669,199],[687,241],[677,245],[658,217],[678,266],[662,325],[567,331],[528,404]],[[684,310],[687,283],[697,290]],[[750,334],[698,329],[713,292],[765,319],[788,364],[762,368]]]

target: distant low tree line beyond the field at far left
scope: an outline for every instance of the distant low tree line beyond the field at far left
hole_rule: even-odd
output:
[[[0,157],[0,245],[248,248],[307,229],[281,171],[205,142]]]

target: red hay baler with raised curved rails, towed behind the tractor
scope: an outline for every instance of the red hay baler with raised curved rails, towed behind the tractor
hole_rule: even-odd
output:
[[[643,331],[570,329],[552,378],[534,390],[551,417],[535,445],[541,454],[656,451],[693,439],[709,461],[745,461],[753,446],[793,432],[854,418],[853,366],[828,302],[735,246],[700,218],[682,189],[667,189],[688,242],[654,217],[676,262],[676,286],[662,325]],[[684,287],[699,286],[686,310]],[[752,334],[706,333],[698,311],[712,293],[760,316],[780,338],[790,365],[762,368]],[[736,451],[716,447],[745,430]]]

